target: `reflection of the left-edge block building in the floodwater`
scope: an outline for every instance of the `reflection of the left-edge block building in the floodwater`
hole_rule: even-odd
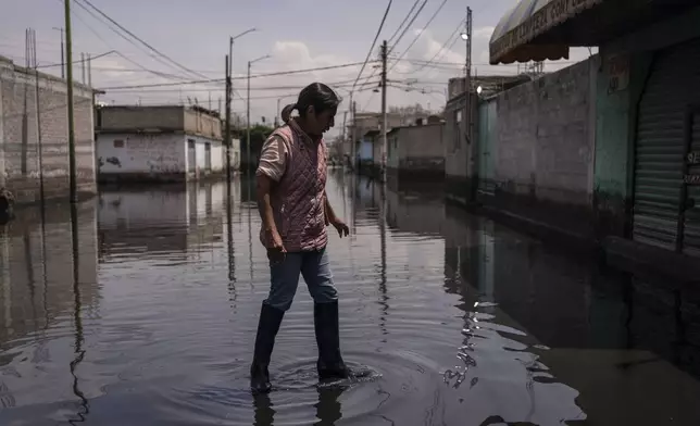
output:
[[[98,309],[97,226],[93,202],[78,206],[77,272],[83,309]],[[71,212],[47,209],[42,228],[38,209],[0,230],[0,347],[51,328],[73,315],[75,305]],[[60,320],[63,318],[63,320]],[[8,359],[0,355],[0,365]]]

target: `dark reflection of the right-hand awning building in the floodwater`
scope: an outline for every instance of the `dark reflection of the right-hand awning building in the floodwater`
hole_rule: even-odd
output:
[[[697,297],[603,274],[459,209],[447,210],[445,238],[447,290],[467,311],[496,302],[498,324],[542,344],[529,350],[580,392],[591,423],[664,424],[668,413],[697,423]]]

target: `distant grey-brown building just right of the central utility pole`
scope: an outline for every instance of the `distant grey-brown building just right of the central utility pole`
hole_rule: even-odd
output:
[[[400,180],[445,179],[445,123],[430,116],[426,124],[418,120],[389,130],[387,174]]]

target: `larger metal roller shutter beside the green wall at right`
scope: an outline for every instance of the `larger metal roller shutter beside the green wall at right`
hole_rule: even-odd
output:
[[[688,108],[700,101],[699,93],[700,40],[660,53],[639,105],[633,227],[636,241],[677,249],[687,150],[685,123]],[[692,231],[688,227],[688,233]]]

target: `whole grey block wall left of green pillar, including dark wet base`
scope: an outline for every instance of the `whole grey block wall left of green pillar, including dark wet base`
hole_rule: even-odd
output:
[[[491,143],[493,167],[495,189],[479,195],[483,202],[590,235],[597,63],[577,63],[493,99],[498,125],[477,134]]]

